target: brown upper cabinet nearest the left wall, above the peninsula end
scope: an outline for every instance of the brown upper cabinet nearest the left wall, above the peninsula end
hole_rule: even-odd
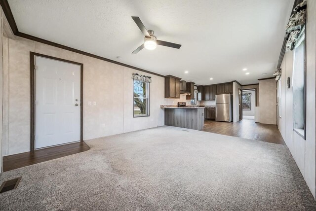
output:
[[[164,97],[180,98],[180,80],[181,78],[173,75],[167,75],[164,78]]]

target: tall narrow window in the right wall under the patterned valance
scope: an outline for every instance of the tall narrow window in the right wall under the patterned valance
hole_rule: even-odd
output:
[[[294,46],[293,55],[293,130],[305,139],[306,132],[306,60],[305,27]]]

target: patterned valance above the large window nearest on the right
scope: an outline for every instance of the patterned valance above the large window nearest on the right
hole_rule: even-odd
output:
[[[306,4],[307,0],[299,3],[294,9],[294,13],[291,15],[290,20],[285,28],[285,39],[287,40],[285,45],[285,51],[291,51],[294,48],[294,43],[297,37],[300,35],[302,28],[306,22]]]

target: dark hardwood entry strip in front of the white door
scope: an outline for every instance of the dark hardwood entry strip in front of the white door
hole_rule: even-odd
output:
[[[36,163],[76,154],[89,150],[85,142],[75,142],[60,146],[52,146],[34,152],[24,152],[3,157],[3,172],[30,166]]]

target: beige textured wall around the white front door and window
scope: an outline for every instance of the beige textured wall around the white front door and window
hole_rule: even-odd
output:
[[[3,152],[30,150],[30,51],[83,63],[84,140],[164,125],[164,78],[21,37],[8,39],[8,139]],[[5,50],[5,49],[4,49]],[[152,76],[150,116],[133,118],[132,73]],[[96,106],[88,106],[96,101]],[[105,124],[105,128],[102,128]]]

